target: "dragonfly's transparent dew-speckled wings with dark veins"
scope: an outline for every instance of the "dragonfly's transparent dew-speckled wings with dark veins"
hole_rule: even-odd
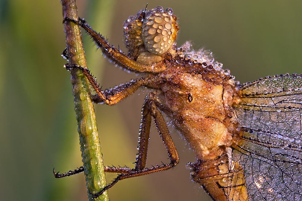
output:
[[[233,160],[244,168],[249,199],[302,200],[302,75],[246,83],[234,104],[243,130]]]

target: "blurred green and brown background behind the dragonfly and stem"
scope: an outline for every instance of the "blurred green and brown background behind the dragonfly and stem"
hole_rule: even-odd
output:
[[[78,1],[85,17],[112,45],[123,42],[124,20],[148,1]],[[216,60],[241,83],[282,73],[301,73],[301,1],[158,1],[148,8],[171,7],[178,16],[178,45],[211,49]],[[85,36],[83,32],[83,36]],[[101,56],[84,37],[88,68],[104,87],[136,78]],[[0,200],[87,200],[83,174],[55,179],[82,165],[70,74],[60,56],[65,48],[62,7],[57,1],[0,0]],[[95,111],[105,165],[133,167],[140,111],[148,91],[138,91],[114,107]],[[140,96],[138,96],[140,94]],[[195,157],[170,128],[180,164],[168,170],[118,182],[115,200],[210,200],[190,181],[187,162]],[[148,165],[165,162],[167,153],[156,133]],[[167,160],[168,161],[168,160]],[[107,181],[114,175],[107,174]]]

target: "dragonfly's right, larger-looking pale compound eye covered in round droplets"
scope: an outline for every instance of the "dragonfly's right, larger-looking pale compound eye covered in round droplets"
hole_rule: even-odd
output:
[[[162,55],[172,46],[179,30],[172,8],[165,11],[161,6],[149,10],[142,24],[145,48],[153,55]]]

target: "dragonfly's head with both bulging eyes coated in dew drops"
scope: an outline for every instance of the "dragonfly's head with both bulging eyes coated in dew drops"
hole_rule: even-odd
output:
[[[131,15],[124,23],[124,36],[129,55],[137,58],[141,52],[163,55],[173,45],[179,30],[172,8],[157,6]]]

